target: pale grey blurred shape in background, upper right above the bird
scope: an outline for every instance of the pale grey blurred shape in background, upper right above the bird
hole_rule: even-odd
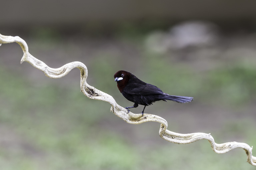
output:
[[[188,21],[169,32],[155,31],[145,40],[146,49],[166,53],[170,49],[212,46],[218,41],[218,27],[210,22]]]

